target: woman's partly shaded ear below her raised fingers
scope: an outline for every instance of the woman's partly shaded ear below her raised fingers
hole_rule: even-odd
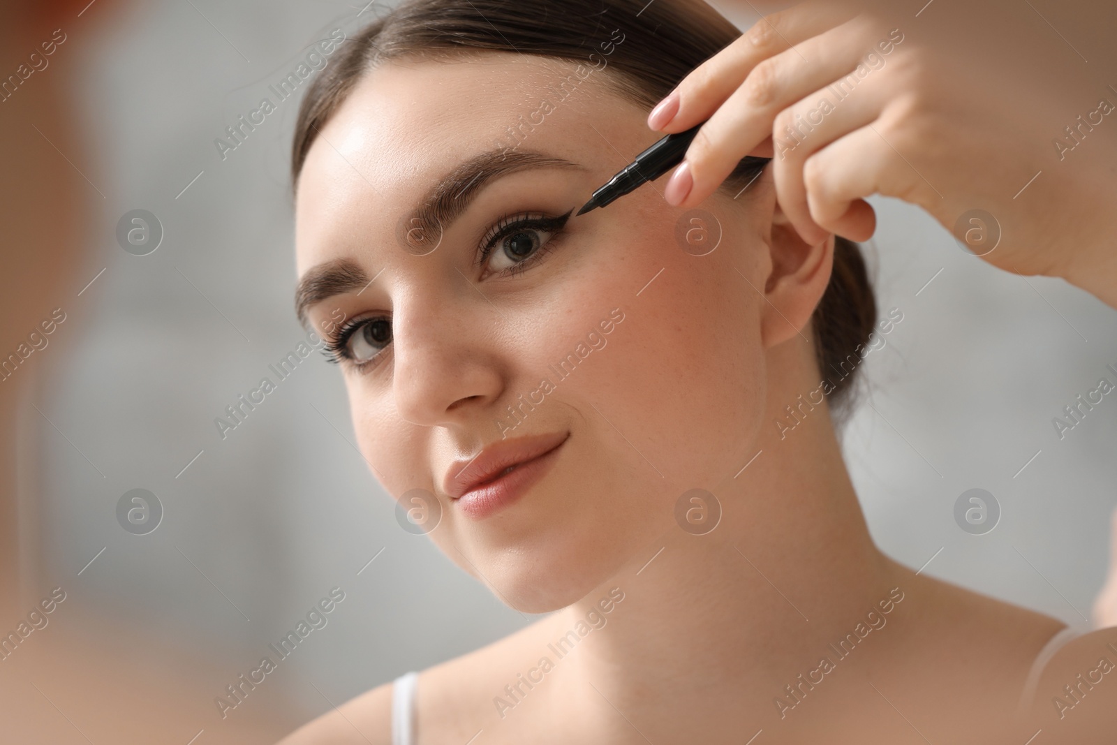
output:
[[[834,258],[833,233],[815,246],[804,242],[776,199],[767,242],[771,271],[764,281],[767,302],[761,308],[765,348],[803,334],[830,283]]]

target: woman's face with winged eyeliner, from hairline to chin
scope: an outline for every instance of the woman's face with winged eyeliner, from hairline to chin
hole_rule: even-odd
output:
[[[660,136],[604,75],[503,54],[389,64],[322,127],[298,184],[306,319],[347,334],[361,452],[397,499],[433,495],[431,538],[528,612],[672,528],[680,495],[739,469],[764,410],[762,202],[708,200],[706,256],[677,238],[703,223],[663,201],[666,176],[574,217]],[[437,221],[413,219],[451,174]],[[505,477],[513,502],[455,498],[454,477],[509,442],[561,445]]]

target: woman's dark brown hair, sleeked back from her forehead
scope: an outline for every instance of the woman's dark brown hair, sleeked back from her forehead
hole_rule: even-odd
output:
[[[614,29],[623,42],[611,37]],[[599,79],[650,111],[741,31],[701,0],[403,0],[347,41],[311,85],[295,125],[297,182],[318,131],[361,76],[395,58],[442,59],[486,52],[535,55],[596,67]],[[573,77],[573,76],[572,76]],[[720,191],[737,194],[770,159],[742,160]],[[814,309],[815,357],[832,391],[836,417],[877,321],[876,300],[857,243],[834,238],[833,271]]]

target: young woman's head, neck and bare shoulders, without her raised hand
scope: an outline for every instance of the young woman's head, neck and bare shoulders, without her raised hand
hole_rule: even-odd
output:
[[[872,21],[870,50],[895,51]],[[665,204],[665,180],[575,216],[738,36],[681,0],[418,0],[314,83],[298,309],[341,364],[361,451],[462,570],[553,612],[285,743],[1111,736],[1117,636],[1068,640],[866,529],[834,427],[898,318],[827,232],[830,214],[866,237],[863,208],[804,211],[779,157],[737,162],[752,143],[728,180],[700,174],[700,204]],[[705,115],[727,96],[707,89]]]

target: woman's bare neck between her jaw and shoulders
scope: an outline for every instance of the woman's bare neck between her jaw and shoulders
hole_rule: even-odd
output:
[[[594,711],[604,697],[652,719],[663,700],[696,722],[722,704],[772,711],[785,684],[833,658],[829,644],[904,583],[869,536],[825,405],[783,438],[775,427],[761,432],[742,465],[760,456],[709,488],[723,510],[712,532],[672,526],[553,617],[557,638],[610,590],[624,593],[602,614],[605,625],[577,643],[556,695]],[[680,723],[679,732],[703,732],[694,726]]]

